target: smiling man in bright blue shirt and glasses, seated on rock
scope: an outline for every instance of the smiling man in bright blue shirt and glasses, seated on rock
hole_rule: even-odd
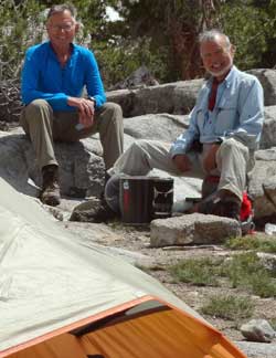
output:
[[[98,131],[109,169],[123,152],[124,128],[120,107],[106,103],[93,52],[73,43],[78,30],[75,9],[53,6],[46,30],[50,41],[25,54],[21,84],[25,108],[20,122],[42,170],[41,200],[56,206],[61,196],[54,140],[76,141]]]

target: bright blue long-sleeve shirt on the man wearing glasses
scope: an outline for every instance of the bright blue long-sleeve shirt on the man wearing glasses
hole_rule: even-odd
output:
[[[50,42],[28,49],[21,74],[22,102],[28,105],[41,98],[49,102],[53,110],[76,110],[67,99],[81,97],[84,87],[96,101],[96,108],[106,102],[104,85],[94,54],[72,44],[72,54],[62,67]]]

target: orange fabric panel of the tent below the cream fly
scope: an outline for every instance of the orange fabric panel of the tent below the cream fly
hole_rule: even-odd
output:
[[[169,306],[57,335],[9,358],[245,358],[216,329]]]

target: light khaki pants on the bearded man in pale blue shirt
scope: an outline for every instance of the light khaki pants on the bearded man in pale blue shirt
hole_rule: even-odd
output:
[[[189,151],[188,156],[192,169],[180,172],[171,160],[169,150],[171,145],[158,140],[139,140],[132,144],[128,150],[108,170],[109,175],[145,176],[153,168],[164,170],[173,176],[204,178],[206,173],[202,168],[202,158],[208,150],[203,146],[203,152]],[[253,156],[242,143],[230,138],[224,140],[216,152],[217,169],[212,175],[220,176],[219,190],[230,190],[241,200],[246,187],[246,173],[253,168]]]

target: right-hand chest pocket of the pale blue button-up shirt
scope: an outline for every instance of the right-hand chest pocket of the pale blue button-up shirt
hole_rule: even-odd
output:
[[[216,110],[215,135],[223,135],[225,131],[235,129],[238,118],[236,101],[227,98],[220,103]]]

